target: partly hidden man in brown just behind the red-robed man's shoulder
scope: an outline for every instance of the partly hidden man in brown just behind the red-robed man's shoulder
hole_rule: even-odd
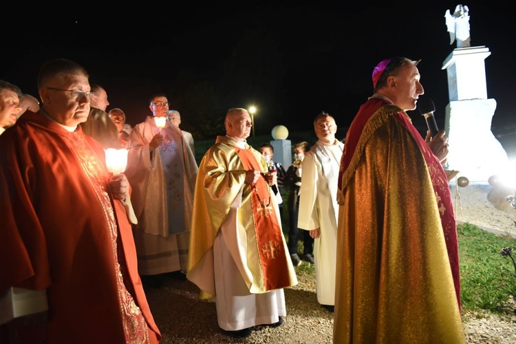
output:
[[[118,130],[106,112],[107,93],[103,87],[92,85],[91,105],[86,122],[81,124],[83,131],[100,142],[104,148],[122,148],[118,140]]]

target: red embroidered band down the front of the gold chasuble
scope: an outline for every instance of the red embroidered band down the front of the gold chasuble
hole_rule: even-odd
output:
[[[250,149],[235,147],[235,151],[246,171],[251,169],[261,171],[261,167]],[[250,194],[265,289],[275,290],[288,287],[290,281],[288,279],[285,246],[283,245],[283,233],[279,226],[275,208],[271,204],[269,186],[265,178],[259,178],[251,186]]]

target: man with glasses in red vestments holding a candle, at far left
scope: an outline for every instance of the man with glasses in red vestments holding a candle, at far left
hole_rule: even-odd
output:
[[[40,111],[0,136],[0,295],[43,290],[48,305],[7,324],[17,343],[160,339],[125,212],[129,182],[107,171],[103,147],[79,126],[88,78],[73,61],[47,61]]]

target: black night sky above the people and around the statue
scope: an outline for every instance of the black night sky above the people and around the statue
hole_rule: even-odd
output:
[[[131,125],[151,114],[149,96],[164,92],[194,136],[228,108],[252,104],[258,107],[258,134],[275,125],[312,130],[314,116],[323,110],[347,127],[372,94],[374,66],[383,58],[406,56],[422,58],[421,83],[443,127],[449,100],[441,67],[456,47],[449,44],[444,12],[453,13],[458,4],[241,2],[46,17],[23,25],[32,36],[4,41],[0,78],[37,96],[41,64],[70,58],[88,70],[90,83],[105,87],[107,109],[122,108]],[[504,9],[493,2],[462,4],[469,7],[471,46],[491,51],[485,63],[488,98],[497,101],[493,124],[512,121],[515,20],[503,17]],[[424,123],[417,110],[410,114],[415,124]]]

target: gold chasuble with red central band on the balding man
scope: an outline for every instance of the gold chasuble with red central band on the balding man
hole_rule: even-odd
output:
[[[267,166],[259,151],[226,136],[202,158],[193,197],[193,217],[186,277],[215,296],[213,244],[219,231],[251,294],[297,284],[279,222],[279,208],[263,175]],[[247,170],[262,173],[246,184]]]

